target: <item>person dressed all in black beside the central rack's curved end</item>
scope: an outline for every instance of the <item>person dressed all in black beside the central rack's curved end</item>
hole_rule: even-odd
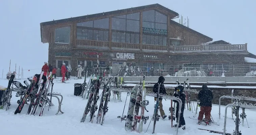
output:
[[[180,113],[180,123],[179,123],[179,128],[182,127],[182,129],[185,129],[185,119],[183,116],[184,113],[184,109],[185,109],[185,101],[186,101],[186,95],[184,93],[184,87],[182,85],[177,86],[177,88],[175,88],[175,93],[173,94],[174,97],[178,97],[181,99],[182,101],[182,106],[181,106],[181,113]],[[176,106],[176,122],[178,122],[178,116],[179,116],[179,103],[175,100],[173,100],[173,102],[177,103]],[[177,127],[177,124],[173,125],[174,127]]]

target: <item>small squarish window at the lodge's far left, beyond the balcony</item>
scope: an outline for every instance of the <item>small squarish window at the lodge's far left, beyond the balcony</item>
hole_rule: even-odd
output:
[[[55,29],[55,43],[70,44],[70,26]]]

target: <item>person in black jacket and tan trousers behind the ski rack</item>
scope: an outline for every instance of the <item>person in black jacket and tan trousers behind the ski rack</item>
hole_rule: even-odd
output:
[[[163,76],[160,76],[158,78],[158,82],[154,85],[154,88],[153,88],[153,92],[154,93],[158,93],[158,84],[161,83],[160,85],[160,89],[159,89],[159,94],[162,93],[162,94],[167,94],[166,91],[165,91],[165,88],[164,88],[164,85],[163,85],[163,82],[164,82],[164,77]],[[156,101],[156,97],[155,97],[155,101]],[[163,110],[163,104],[162,104],[162,98],[159,99],[159,111],[160,111],[160,115],[161,117],[164,119],[166,118],[167,116],[165,115],[164,113],[164,110]]]

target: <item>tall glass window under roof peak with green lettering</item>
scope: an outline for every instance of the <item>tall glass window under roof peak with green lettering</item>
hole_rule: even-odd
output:
[[[167,16],[155,11],[142,12],[143,44],[166,45]]]

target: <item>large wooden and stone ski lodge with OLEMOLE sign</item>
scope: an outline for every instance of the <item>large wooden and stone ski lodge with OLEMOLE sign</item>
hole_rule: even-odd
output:
[[[152,4],[43,22],[41,42],[49,43],[48,62],[75,69],[97,63],[110,66],[154,66],[164,69],[184,63],[246,64],[253,57],[247,44],[232,45],[212,38],[173,19],[179,14]]]

